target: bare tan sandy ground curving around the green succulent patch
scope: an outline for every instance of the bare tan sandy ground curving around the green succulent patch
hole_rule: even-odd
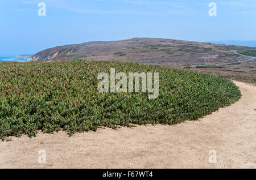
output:
[[[0,142],[0,168],[256,168],[256,87],[235,83],[241,100],[200,121]],[[212,149],[216,164],[209,163]]]

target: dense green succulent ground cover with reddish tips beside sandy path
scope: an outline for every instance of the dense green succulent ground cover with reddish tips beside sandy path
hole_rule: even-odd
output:
[[[99,93],[100,72],[159,72],[159,96]],[[171,67],[127,62],[0,63],[0,139],[99,126],[175,125],[196,120],[239,100],[228,79]]]

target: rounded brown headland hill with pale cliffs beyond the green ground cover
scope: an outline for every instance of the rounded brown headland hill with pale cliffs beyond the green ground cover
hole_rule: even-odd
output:
[[[94,41],[57,46],[36,53],[31,61],[129,61],[172,67],[243,60],[232,50],[255,50],[245,46],[229,46],[166,38],[131,38],[121,41]]]

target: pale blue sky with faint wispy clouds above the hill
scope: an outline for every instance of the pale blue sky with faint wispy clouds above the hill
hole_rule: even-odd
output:
[[[208,15],[210,2],[217,16]],[[0,0],[0,55],[132,37],[256,40],[255,19],[255,0]]]

